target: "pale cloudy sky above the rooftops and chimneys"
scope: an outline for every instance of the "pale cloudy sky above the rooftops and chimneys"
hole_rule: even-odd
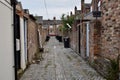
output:
[[[23,9],[29,9],[30,14],[43,16],[43,19],[60,19],[62,14],[74,13],[74,7],[80,10],[81,0],[18,0]],[[46,2],[46,4],[45,4]],[[85,0],[91,3],[91,0]],[[46,5],[46,6],[45,6]]]

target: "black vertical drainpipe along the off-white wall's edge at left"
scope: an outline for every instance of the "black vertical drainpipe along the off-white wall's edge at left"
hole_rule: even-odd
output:
[[[14,74],[15,74],[15,80],[17,80],[17,57],[16,57],[16,0],[12,0],[12,6],[13,6],[13,30],[14,30]]]

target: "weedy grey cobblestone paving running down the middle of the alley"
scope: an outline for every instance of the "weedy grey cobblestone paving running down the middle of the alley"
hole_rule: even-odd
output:
[[[44,60],[32,64],[20,80],[105,80],[70,48],[54,37],[45,45]]]

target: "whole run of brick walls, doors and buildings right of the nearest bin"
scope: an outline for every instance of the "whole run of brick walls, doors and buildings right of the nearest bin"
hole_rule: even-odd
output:
[[[71,47],[104,77],[110,60],[120,54],[119,4],[119,0],[92,0],[90,4],[81,0],[81,13],[76,14],[72,27]]]

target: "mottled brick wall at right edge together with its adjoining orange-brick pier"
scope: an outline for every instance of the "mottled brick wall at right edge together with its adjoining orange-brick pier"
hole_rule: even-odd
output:
[[[101,26],[92,25],[94,29],[91,28],[90,54],[94,58],[94,67],[105,76],[110,66],[106,58],[116,59],[120,54],[120,0],[102,0],[101,11]]]

